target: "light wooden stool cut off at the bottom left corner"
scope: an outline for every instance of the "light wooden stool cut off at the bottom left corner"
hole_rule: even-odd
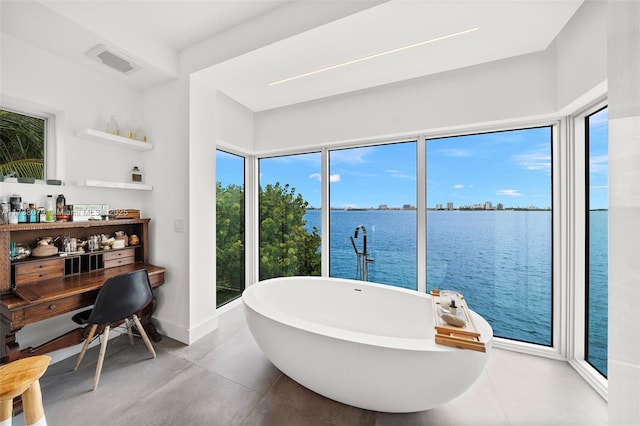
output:
[[[0,365],[0,426],[11,425],[13,398],[20,395],[25,424],[46,426],[39,379],[49,362],[51,357],[40,355]]]

